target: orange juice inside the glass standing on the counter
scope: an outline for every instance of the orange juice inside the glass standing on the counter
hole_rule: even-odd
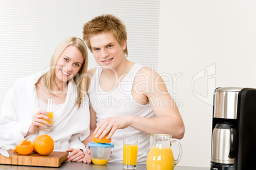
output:
[[[138,145],[123,145],[123,164],[134,166],[137,164]]]

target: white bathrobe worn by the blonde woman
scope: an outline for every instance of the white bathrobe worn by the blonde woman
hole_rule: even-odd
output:
[[[36,82],[43,72],[18,79],[8,91],[0,114],[0,140],[6,145],[17,145],[29,131],[32,117],[39,111]],[[86,95],[81,107],[75,105],[76,84],[68,84],[68,94],[64,105],[53,115],[51,130],[39,129],[38,133],[26,136],[34,141],[41,134],[53,138],[54,150],[66,152],[68,148],[85,151],[82,141],[90,134],[89,98]]]

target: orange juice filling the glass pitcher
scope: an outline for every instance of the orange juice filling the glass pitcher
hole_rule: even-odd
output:
[[[147,170],[174,169],[174,158],[171,148],[150,148],[148,158],[146,159]]]

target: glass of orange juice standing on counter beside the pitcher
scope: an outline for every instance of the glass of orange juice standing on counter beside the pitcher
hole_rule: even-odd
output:
[[[123,168],[136,169],[139,146],[139,135],[124,134],[123,136]]]

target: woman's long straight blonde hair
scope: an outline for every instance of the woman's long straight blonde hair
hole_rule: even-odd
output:
[[[82,39],[77,37],[68,37],[64,39],[64,41],[60,42],[60,44],[57,46],[57,48],[55,48],[55,51],[53,52],[52,59],[50,61],[50,71],[44,74],[42,78],[43,78],[43,84],[45,88],[48,89],[49,93],[54,96],[52,91],[52,86],[53,84],[57,86],[57,83],[55,81],[55,67],[64,49],[66,49],[68,46],[71,46],[71,45],[75,46],[80,51],[80,53],[82,53],[82,57],[83,57],[83,64],[78,74],[76,74],[75,77],[73,77],[73,79],[69,80],[69,81],[74,81],[76,84],[76,91],[77,91],[76,105],[78,105],[78,108],[80,108],[80,105],[83,101],[83,97],[85,96],[85,91],[87,87],[87,77],[85,77],[84,75],[87,74],[87,67],[88,67],[87,47],[85,45],[85,42],[83,42]]]

